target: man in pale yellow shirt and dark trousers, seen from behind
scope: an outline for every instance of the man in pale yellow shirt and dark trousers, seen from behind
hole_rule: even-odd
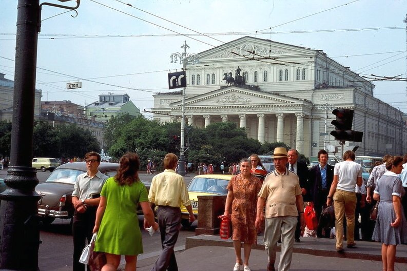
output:
[[[178,157],[168,153],[164,157],[164,172],[154,176],[151,181],[148,201],[158,206],[157,217],[160,227],[163,251],[158,257],[152,271],[178,271],[174,246],[181,229],[181,203],[189,212],[189,222],[195,220],[191,201],[186,189],[184,178],[175,172]]]

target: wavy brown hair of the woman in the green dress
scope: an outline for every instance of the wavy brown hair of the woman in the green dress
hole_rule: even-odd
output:
[[[120,167],[114,180],[119,185],[131,185],[139,179],[140,159],[134,152],[128,152],[120,158]]]

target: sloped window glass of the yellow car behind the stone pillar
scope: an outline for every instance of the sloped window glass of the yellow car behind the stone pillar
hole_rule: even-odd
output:
[[[228,180],[213,178],[193,178],[188,185],[189,192],[218,193],[226,195]]]

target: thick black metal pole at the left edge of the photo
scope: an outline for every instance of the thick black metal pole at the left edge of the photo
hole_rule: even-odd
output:
[[[0,270],[38,269],[40,195],[34,190],[38,179],[31,160],[39,16],[39,0],[18,1],[8,188],[0,194]]]

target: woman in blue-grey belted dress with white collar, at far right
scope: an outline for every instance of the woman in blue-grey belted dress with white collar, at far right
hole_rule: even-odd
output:
[[[407,223],[401,206],[404,189],[398,177],[403,169],[403,158],[392,157],[386,162],[386,169],[389,171],[378,180],[373,192],[373,199],[380,203],[372,239],[382,243],[383,270],[393,271],[396,247],[407,239]]]

